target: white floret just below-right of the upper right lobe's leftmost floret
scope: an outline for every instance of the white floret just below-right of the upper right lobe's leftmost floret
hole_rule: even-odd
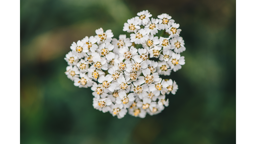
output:
[[[142,28],[135,34],[130,34],[131,36],[131,42],[134,42],[135,44],[143,44],[148,40],[147,32]]]

